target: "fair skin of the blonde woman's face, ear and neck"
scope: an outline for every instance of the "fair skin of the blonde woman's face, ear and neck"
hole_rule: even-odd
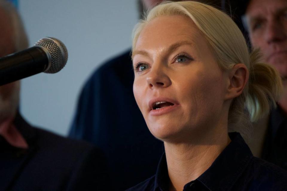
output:
[[[244,64],[220,69],[204,36],[185,16],[150,21],[132,58],[135,99],[150,132],[164,141],[170,190],[182,190],[229,144],[228,109],[242,93],[248,70]]]

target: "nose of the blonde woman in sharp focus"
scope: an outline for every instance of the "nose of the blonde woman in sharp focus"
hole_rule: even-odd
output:
[[[146,77],[147,84],[150,89],[165,88],[171,85],[171,80],[167,74],[166,69],[162,66],[155,66],[151,68],[148,76]]]

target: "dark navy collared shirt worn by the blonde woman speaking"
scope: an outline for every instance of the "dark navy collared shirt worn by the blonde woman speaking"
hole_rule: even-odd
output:
[[[229,137],[230,144],[201,176],[184,186],[184,191],[287,190],[285,170],[254,157],[239,133],[229,133]],[[168,191],[169,185],[164,153],[156,175],[127,191]]]

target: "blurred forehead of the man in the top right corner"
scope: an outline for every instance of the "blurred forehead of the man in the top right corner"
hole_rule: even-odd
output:
[[[246,9],[248,17],[276,15],[287,9],[287,0],[251,0]]]

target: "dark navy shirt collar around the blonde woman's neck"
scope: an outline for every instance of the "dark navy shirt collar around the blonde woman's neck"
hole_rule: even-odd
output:
[[[231,139],[230,144],[220,153],[212,165],[196,179],[210,191],[230,190],[253,156],[239,133],[229,133],[229,137]],[[164,153],[155,175],[154,190],[168,190],[168,186],[167,160]]]

